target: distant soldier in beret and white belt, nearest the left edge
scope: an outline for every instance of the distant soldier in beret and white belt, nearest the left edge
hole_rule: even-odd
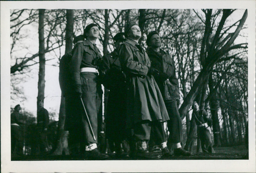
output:
[[[11,114],[11,153],[22,154],[22,140],[20,134],[20,125],[23,122],[20,121],[20,105],[14,107],[14,111]],[[15,152],[16,147],[16,152]]]

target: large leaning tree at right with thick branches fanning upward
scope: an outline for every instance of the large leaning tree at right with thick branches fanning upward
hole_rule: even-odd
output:
[[[205,83],[208,84],[210,70],[213,68],[216,62],[220,60],[230,50],[247,47],[247,43],[232,45],[236,37],[238,36],[239,32],[243,28],[244,22],[248,15],[247,10],[245,10],[244,15],[239,20],[239,24],[236,27],[236,30],[230,34],[225,35],[230,30],[230,28],[234,26],[232,25],[227,29],[223,28],[226,19],[232,14],[232,12],[234,12],[234,10],[223,9],[221,20],[218,24],[215,35],[213,36],[211,36],[211,34],[214,33],[212,21],[214,22],[215,20],[213,18],[214,15],[212,15],[212,9],[206,9],[203,10],[203,12],[205,14],[205,30],[200,51],[200,63],[203,68],[200,71],[199,75],[197,76],[196,81],[193,84],[191,90],[189,91],[187,97],[184,98],[184,102],[179,109],[180,115],[182,117],[185,117],[184,115],[188,112],[188,109],[192,105],[192,102],[196,98],[196,95],[202,91],[202,88],[205,85]],[[203,101],[200,104],[200,109],[204,108],[204,100],[205,96],[203,94],[203,97],[200,98],[200,101]]]

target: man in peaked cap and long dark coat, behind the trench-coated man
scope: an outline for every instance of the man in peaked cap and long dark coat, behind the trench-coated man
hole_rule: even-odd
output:
[[[125,74],[121,70],[117,50],[126,38],[120,32],[114,36],[115,50],[103,56],[100,63],[101,82],[109,90],[106,114],[106,138],[115,143],[117,157],[127,157],[122,141],[127,137],[125,129],[126,94]]]

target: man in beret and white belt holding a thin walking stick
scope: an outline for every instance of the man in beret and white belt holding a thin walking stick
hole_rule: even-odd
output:
[[[76,141],[84,141],[85,157],[92,160],[104,160],[108,158],[107,154],[100,153],[97,148],[97,112],[99,110],[99,94],[102,93],[101,85],[98,82],[98,62],[102,58],[95,42],[99,37],[99,27],[97,24],[91,23],[84,29],[84,40],[78,43],[73,52],[70,61],[71,89],[73,97],[76,98],[77,114],[72,114],[67,121],[69,138]],[[96,140],[93,139],[90,126],[83,110],[81,99],[84,102],[86,112],[88,114],[92,130]],[[81,113],[81,114],[80,114]],[[68,126],[69,125],[69,126]]]

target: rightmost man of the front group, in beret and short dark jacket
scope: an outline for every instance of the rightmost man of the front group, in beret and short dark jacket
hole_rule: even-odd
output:
[[[160,49],[161,40],[157,31],[152,31],[148,34],[146,43],[151,66],[159,71],[159,74],[153,75],[164,98],[170,118],[167,121],[167,127],[170,132],[168,142],[173,143],[175,156],[189,156],[191,153],[182,149],[180,145],[182,140],[182,124],[178,109],[180,91],[179,82],[175,74],[174,61],[171,55]]]

